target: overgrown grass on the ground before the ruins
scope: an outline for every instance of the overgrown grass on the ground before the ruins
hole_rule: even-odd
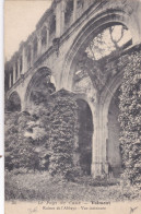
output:
[[[122,189],[118,180],[93,180],[91,177],[75,181],[51,178],[47,171],[5,175],[5,200],[45,201],[122,201],[139,199],[139,191]]]

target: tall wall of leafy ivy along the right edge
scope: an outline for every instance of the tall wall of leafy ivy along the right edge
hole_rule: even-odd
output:
[[[132,185],[141,182],[141,52],[129,56],[124,69],[120,95],[121,153],[124,179]],[[122,64],[122,60],[120,60]]]

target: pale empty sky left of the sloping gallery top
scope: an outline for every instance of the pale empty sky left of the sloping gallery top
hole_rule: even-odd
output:
[[[35,26],[51,0],[5,0],[4,3],[4,60],[19,50],[22,40],[35,31]]]

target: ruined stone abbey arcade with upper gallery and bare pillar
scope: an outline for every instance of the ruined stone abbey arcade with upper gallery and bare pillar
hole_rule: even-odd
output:
[[[118,57],[105,61],[102,82],[94,74],[83,75],[78,69],[86,45],[101,31],[124,25],[131,33],[131,43],[121,56],[141,43],[141,3],[137,0],[54,0],[36,25],[36,31],[22,41],[20,49],[5,63],[5,96],[19,104],[19,110],[32,108],[33,88],[51,76],[56,91],[75,93],[78,103],[85,103],[92,119],[91,175],[102,176],[111,165],[120,174],[118,88],[122,69]],[[107,64],[114,64],[107,69]],[[78,72],[79,71],[79,72]],[[80,73],[78,75],[78,73]],[[78,75],[78,76],[77,76]],[[83,112],[82,112],[83,114]]]

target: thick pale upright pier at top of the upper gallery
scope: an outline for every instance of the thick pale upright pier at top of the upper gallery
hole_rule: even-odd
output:
[[[56,38],[60,37],[64,28],[64,2],[60,1],[56,5]]]

